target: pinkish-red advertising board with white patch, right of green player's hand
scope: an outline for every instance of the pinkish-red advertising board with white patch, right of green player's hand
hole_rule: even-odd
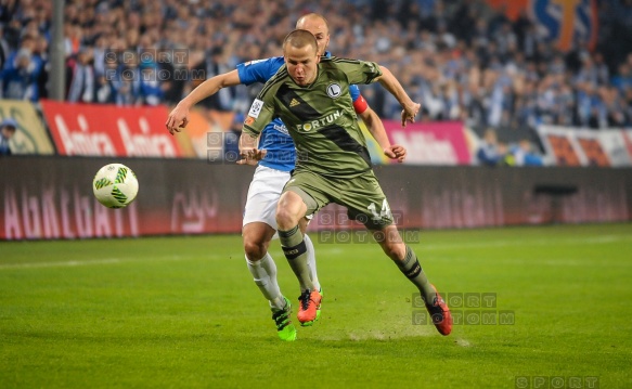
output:
[[[414,122],[402,128],[398,121],[384,120],[384,127],[391,143],[407,148],[407,164],[472,165],[461,121]]]

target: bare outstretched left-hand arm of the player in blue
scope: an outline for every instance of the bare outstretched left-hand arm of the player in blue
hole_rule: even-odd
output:
[[[222,88],[238,86],[241,83],[236,69],[217,75],[202,82],[171,111],[166,122],[167,130],[171,134],[180,132],[189,124],[189,111],[192,106],[219,92]]]

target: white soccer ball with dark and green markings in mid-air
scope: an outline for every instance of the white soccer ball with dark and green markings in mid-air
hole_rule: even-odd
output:
[[[99,169],[94,176],[92,191],[99,203],[107,208],[122,208],[136,198],[139,182],[127,166],[109,164]]]

